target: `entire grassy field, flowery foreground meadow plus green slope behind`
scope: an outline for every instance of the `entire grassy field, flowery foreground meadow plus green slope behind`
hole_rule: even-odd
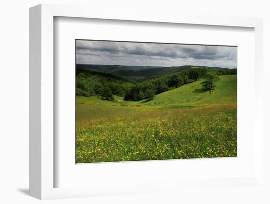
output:
[[[77,97],[77,163],[237,156],[237,76],[201,80],[153,100]]]

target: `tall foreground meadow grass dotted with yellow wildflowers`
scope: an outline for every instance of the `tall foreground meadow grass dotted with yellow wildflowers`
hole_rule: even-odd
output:
[[[97,107],[78,109],[78,163],[237,156],[236,104],[166,110],[103,106],[100,117],[83,117]],[[108,114],[107,107],[114,109]]]

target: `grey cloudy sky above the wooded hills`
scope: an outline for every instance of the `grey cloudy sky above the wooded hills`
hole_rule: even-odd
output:
[[[78,64],[237,68],[236,47],[76,41]]]

